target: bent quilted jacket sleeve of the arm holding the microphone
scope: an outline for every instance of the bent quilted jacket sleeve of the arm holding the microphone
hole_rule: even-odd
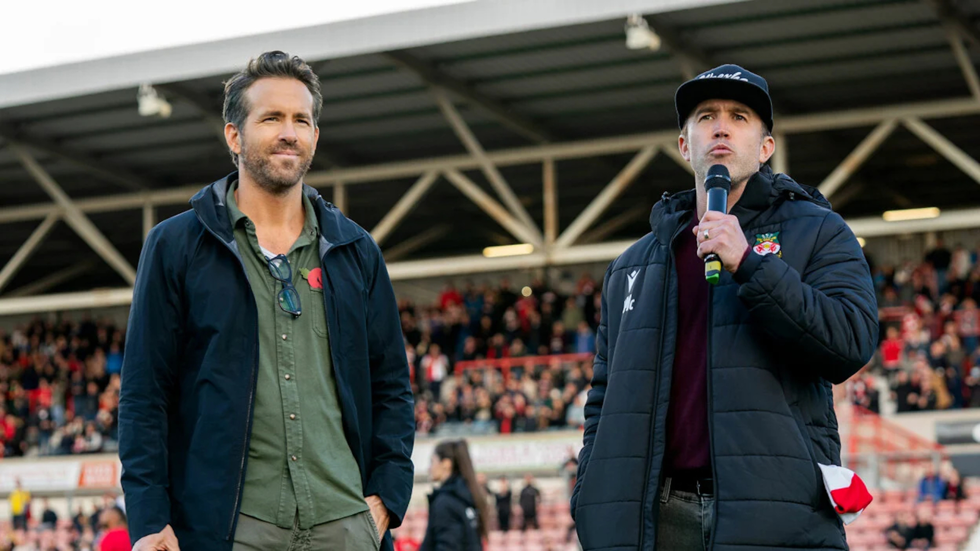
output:
[[[775,255],[750,254],[735,273],[738,296],[777,342],[832,383],[853,376],[874,354],[878,305],[858,239],[828,213],[803,274]]]

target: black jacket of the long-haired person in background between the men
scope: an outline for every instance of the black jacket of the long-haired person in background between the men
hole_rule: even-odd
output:
[[[473,494],[462,476],[450,476],[428,496],[428,526],[418,551],[480,551]]]

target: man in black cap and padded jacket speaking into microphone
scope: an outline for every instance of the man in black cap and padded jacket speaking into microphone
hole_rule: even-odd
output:
[[[877,341],[867,264],[819,191],[765,165],[761,76],[718,67],[675,105],[695,188],[664,193],[606,274],[571,498],[582,546],[847,549],[819,464],[840,465],[831,384]],[[727,215],[707,209],[715,165]]]

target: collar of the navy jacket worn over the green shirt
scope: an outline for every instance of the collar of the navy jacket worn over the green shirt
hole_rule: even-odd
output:
[[[228,192],[228,185],[236,179],[237,172],[226,175],[204,186],[190,199],[191,208],[201,223],[228,245],[234,243],[235,237],[224,196]],[[360,226],[351,222],[336,206],[324,201],[315,188],[304,183],[303,193],[310,198],[317,213],[320,256],[332,247],[346,245],[365,236]]]

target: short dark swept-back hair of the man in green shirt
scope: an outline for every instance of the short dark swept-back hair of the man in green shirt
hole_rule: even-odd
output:
[[[300,57],[290,56],[279,50],[266,52],[249,60],[245,69],[224,81],[224,106],[221,115],[225,123],[235,125],[239,133],[242,131],[250,109],[245,91],[260,78],[295,78],[306,84],[313,95],[313,124],[317,126],[319,112],[323,108],[319,76]],[[231,162],[238,166],[238,155],[234,151],[231,151]]]

